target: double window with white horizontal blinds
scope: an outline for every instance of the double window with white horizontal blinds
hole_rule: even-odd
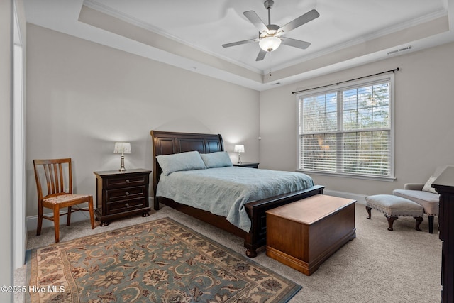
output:
[[[299,170],[394,179],[394,75],[297,95]]]

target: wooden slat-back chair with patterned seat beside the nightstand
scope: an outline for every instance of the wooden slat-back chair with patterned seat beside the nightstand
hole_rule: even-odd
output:
[[[33,160],[35,169],[36,188],[38,189],[38,228],[36,235],[41,234],[43,218],[54,221],[55,242],[59,242],[60,216],[67,214],[70,225],[71,214],[74,211],[89,211],[92,229],[94,229],[93,197],[87,194],[72,194],[71,158]],[[45,182],[41,182],[41,180]],[[42,186],[43,185],[43,186]],[[47,188],[47,194],[43,194]],[[88,209],[72,209],[72,206],[88,203]],[[52,209],[53,216],[45,216],[43,209]],[[60,209],[67,207],[67,212],[60,214]]]

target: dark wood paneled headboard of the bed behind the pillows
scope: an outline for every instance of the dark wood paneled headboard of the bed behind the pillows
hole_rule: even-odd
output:
[[[150,131],[153,141],[153,191],[156,194],[157,182],[162,173],[156,160],[157,155],[171,155],[188,151],[215,153],[224,150],[221,135],[209,133],[173,133],[170,131]]]

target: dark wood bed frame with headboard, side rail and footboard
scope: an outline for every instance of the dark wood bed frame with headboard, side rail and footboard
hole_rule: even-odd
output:
[[[160,180],[162,170],[156,160],[157,155],[170,155],[196,150],[199,153],[215,153],[223,151],[223,140],[218,134],[203,133],[174,133],[166,131],[150,131],[153,140],[153,192],[156,193],[157,183]],[[309,189],[281,194],[276,197],[258,200],[244,204],[251,221],[250,231],[246,232],[234,226],[223,216],[211,214],[209,211],[196,209],[192,206],[181,204],[167,199],[157,197],[155,194],[154,209],[158,210],[160,204],[165,204],[174,209],[189,214],[196,219],[207,222],[218,228],[222,228],[229,233],[240,236],[244,239],[246,255],[253,258],[257,255],[257,248],[266,244],[266,214],[265,211],[277,206],[294,202],[314,194],[323,194],[323,186],[315,185]]]

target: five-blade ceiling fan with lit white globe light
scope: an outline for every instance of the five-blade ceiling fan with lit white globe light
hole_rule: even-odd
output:
[[[250,23],[253,23],[253,25],[258,28],[258,38],[223,44],[223,48],[230,48],[231,46],[241,45],[245,43],[258,42],[258,44],[260,45],[260,52],[258,53],[255,61],[263,60],[267,52],[276,50],[277,48],[279,48],[279,45],[281,45],[281,43],[284,45],[293,46],[294,48],[301,48],[303,50],[309,48],[309,45],[311,45],[311,43],[309,42],[282,37],[282,35],[288,33],[289,31],[292,31],[299,26],[302,26],[305,23],[308,23],[309,21],[314,20],[315,18],[318,18],[320,16],[318,11],[316,11],[315,9],[308,11],[307,13],[304,13],[304,15],[301,15],[293,21],[290,21],[286,25],[279,27],[275,24],[271,24],[270,11],[273,4],[275,4],[275,1],[266,0],[263,4],[268,10],[268,25],[265,25],[265,23],[263,23],[262,19],[260,19],[255,11],[245,11],[243,13],[244,16],[248,18]]]

